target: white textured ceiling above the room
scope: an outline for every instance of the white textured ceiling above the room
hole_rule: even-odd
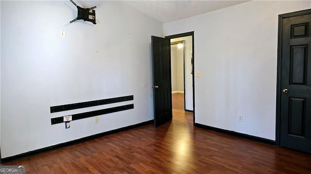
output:
[[[248,0],[128,0],[124,3],[160,22],[200,15]]]

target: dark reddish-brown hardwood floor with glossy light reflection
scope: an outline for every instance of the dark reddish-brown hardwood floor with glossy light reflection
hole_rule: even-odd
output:
[[[173,98],[173,120],[165,125],[6,165],[25,165],[27,174],[311,174],[311,154],[193,127],[192,113]]]

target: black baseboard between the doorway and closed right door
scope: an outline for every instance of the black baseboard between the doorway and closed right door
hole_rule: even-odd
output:
[[[225,129],[221,129],[221,128],[217,128],[217,127],[210,127],[210,126],[206,126],[206,125],[201,125],[198,123],[194,124],[195,127],[199,127],[199,128],[203,128],[203,129],[207,129],[207,130],[212,130],[215,132],[220,132],[220,133],[225,133],[228,135],[233,135],[236,137],[241,137],[244,139],[248,139],[248,140],[254,140],[257,142],[263,142],[263,143],[267,143],[267,144],[271,144],[271,145],[276,145],[276,141],[273,140],[269,140],[269,139],[265,139],[265,138],[260,138],[260,137],[255,137],[252,135],[247,135],[247,134],[243,134],[243,133],[239,133],[239,132],[235,132],[235,131],[231,131],[231,130],[225,130]]]

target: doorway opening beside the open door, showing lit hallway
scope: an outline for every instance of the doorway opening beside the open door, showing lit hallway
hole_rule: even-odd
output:
[[[166,36],[171,41],[172,108],[174,113],[193,113],[194,124],[194,32]],[[178,110],[175,112],[174,110]],[[191,113],[185,116],[192,115]]]

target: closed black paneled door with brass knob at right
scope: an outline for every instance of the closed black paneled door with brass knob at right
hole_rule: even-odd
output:
[[[280,145],[311,153],[311,14],[282,23]]]

